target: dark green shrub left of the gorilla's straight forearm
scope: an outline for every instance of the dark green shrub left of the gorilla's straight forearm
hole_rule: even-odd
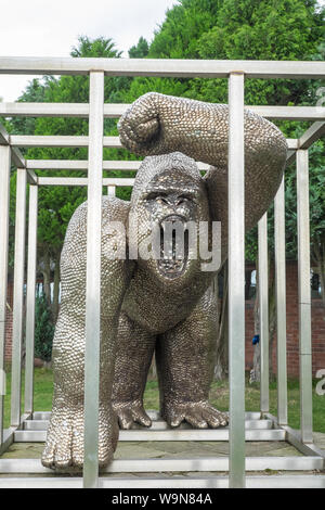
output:
[[[37,296],[35,314],[35,356],[37,358],[44,361],[51,360],[53,336],[54,323],[50,306],[44,296]]]

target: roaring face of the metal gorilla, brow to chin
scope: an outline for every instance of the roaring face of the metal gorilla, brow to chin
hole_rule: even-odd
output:
[[[155,175],[138,195],[139,238],[147,241],[152,252],[144,260],[146,270],[165,281],[181,284],[197,271],[198,222],[207,221],[208,200],[204,181],[178,168],[167,168]],[[153,235],[154,234],[154,235]],[[176,281],[177,280],[177,281]]]

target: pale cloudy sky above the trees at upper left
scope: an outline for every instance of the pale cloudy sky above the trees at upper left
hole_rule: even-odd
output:
[[[151,41],[178,0],[0,0],[1,56],[69,56],[78,36],[112,38],[122,56]],[[34,76],[35,77],[35,76]],[[0,75],[0,98],[15,101],[32,76]]]

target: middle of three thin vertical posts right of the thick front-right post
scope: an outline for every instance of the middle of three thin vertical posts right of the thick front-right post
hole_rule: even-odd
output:
[[[287,327],[286,327],[286,238],[284,178],[274,200],[274,251],[277,356],[277,423],[288,423]]]

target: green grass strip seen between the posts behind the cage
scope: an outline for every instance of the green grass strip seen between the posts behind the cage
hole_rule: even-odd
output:
[[[22,411],[24,403],[24,371],[22,374]],[[317,381],[313,381],[313,428],[315,432],[325,433],[325,395],[320,396],[315,393]],[[44,368],[35,369],[35,397],[34,408],[36,411],[48,411],[52,407],[53,374],[52,370]],[[10,424],[10,394],[11,394],[11,373],[6,371],[6,395],[4,397],[4,426]],[[246,410],[258,411],[260,407],[259,384],[248,384],[246,382]],[[276,415],[276,382],[270,383],[270,412]],[[210,392],[210,401],[220,410],[229,409],[229,384],[226,381],[213,381]],[[144,407],[146,409],[159,408],[158,383],[150,380],[144,393]],[[288,422],[294,429],[299,429],[299,381],[288,381]]]

